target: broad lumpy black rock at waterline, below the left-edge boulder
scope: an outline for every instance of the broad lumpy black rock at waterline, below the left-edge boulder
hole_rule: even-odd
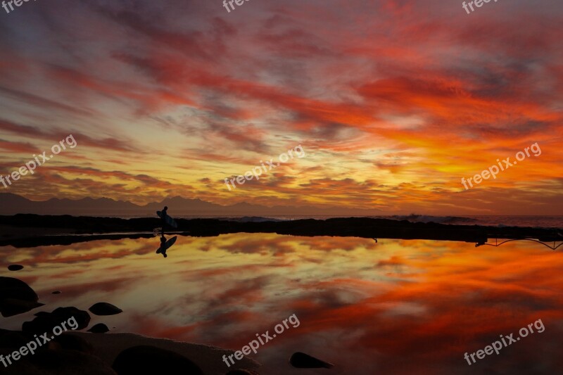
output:
[[[31,322],[25,322],[22,326],[24,333],[41,334],[44,332],[53,332],[55,326],[61,326],[65,322],[67,331],[72,331],[72,326],[68,320],[74,317],[76,329],[84,329],[90,323],[90,314],[84,310],[78,310],[76,307],[58,307],[53,312],[37,312],[36,318]]]

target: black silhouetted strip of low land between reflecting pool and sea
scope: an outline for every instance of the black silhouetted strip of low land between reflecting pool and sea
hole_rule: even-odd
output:
[[[277,233],[293,236],[341,236],[369,239],[429,239],[486,243],[488,239],[563,241],[560,229],[530,227],[484,227],[436,224],[367,217],[328,220],[236,222],[217,219],[177,219],[178,227],[168,234],[218,236],[228,233]],[[137,239],[154,236],[161,224],[157,218],[0,216],[0,246],[32,247],[68,245],[94,239]]]

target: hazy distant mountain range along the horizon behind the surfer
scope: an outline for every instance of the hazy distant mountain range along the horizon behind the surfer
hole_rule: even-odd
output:
[[[236,203],[234,205],[217,205],[201,201],[201,199],[187,199],[180,196],[166,198],[161,202],[136,205],[127,201],[115,201],[110,198],[82,198],[79,200],[51,198],[48,201],[30,201],[13,193],[0,193],[0,215],[15,215],[18,213],[37,215],[74,215],[74,216],[108,216],[108,217],[153,217],[157,210],[167,205],[169,214],[179,216],[263,216],[277,215],[342,215],[365,216],[381,215],[378,210],[362,210],[348,208],[316,208],[311,206],[274,206],[253,205],[250,203]]]

